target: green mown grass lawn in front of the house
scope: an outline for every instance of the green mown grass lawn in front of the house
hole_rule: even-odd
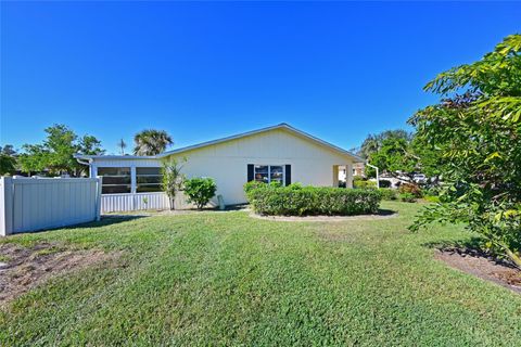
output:
[[[243,211],[105,220],[9,237],[122,255],[0,311],[1,346],[514,346],[521,296],[433,258],[458,227],[396,218],[281,222]],[[5,241],[4,241],[5,242]]]

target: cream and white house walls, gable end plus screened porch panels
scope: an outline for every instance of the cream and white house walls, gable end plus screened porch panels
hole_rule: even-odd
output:
[[[226,205],[245,203],[243,185],[247,181],[247,165],[291,165],[291,181],[305,185],[338,187],[334,168],[339,165],[351,166],[352,157],[330,150],[323,145],[300,137],[284,129],[244,137],[205,147],[173,154],[183,163],[183,174],[188,178],[211,177],[216,180],[217,195],[223,195]],[[142,158],[96,158],[91,175],[98,167],[160,167],[160,159]],[[135,178],[132,178],[134,182]],[[143,204],[147,197],[149,204]],[[218,205],[217,197],[211,203]],[[176,198],[176,208],[190,207],[183,196]],[[103,194],[102,211],[125,211],[135,209],[169,208],[163,193]]]

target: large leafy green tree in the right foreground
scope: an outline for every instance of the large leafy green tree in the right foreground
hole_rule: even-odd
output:
[[[521,35],[512,35],[482,60],[440,74],[425,90],[441,102],[409,123],[441,153],[447,182],[441,203],[419,216],[463,221],[485,245],[521,268]]]

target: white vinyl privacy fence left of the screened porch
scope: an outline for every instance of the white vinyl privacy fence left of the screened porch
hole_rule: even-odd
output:
[[[0,179],[0,235],[100,219],[101,178]]]

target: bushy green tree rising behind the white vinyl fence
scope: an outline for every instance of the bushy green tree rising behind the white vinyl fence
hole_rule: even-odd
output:
[[[47,128],[47,138],[39,144],[24,144],[20,155],[20,165],[25,172],[48,170],[50,174],[79,176],[85,165],[79,164],[75,154],[102,154],[101,142],[92,136],[78,136],[65,125]]]

